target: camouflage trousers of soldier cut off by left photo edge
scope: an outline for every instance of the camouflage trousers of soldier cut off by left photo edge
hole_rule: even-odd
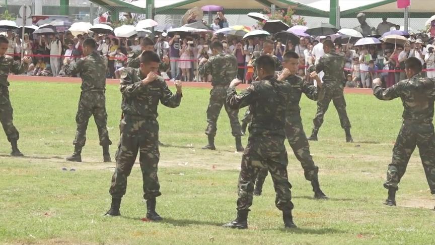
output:
[[[0,122],[9,142],[17,141],[20,138],[20,134],[12,122],[12,113],[13,109],[9,99],[9,89],[6,86],[0,86]]]

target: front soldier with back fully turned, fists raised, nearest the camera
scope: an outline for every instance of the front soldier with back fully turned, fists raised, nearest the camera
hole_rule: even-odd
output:
[[[275,79],[274,63],[269,55],[260,56],[256,66],[260,81],[253,82],[248,89],[237,94],[235,86],[241,81],[235,79],[228,89],[227,104],[235,109],[249,106],[252,122],[239,175],[237,218],[224,227],[248,228],[255,176],[260,169],[267,168],[275,187],[275,205],[282,211],[284,226],[294,228],[292,186],[288,182],[288,160],[284,146],[285,111],[291,87]]]

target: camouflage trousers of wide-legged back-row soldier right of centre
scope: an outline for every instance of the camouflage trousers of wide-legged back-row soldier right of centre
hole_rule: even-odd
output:
[[[317,101],[317,113],[313,119],[314,128],[320,128],[323,124],[323,116],[328,110],[329,103],[334,103],[335,109],[337,109],[338,117],[340,118],[341,128],[350,128],[350,121],[346,112],[346,101],[344,100],[343,88],[334,87],[324,88],[325,96],[322,100]]]

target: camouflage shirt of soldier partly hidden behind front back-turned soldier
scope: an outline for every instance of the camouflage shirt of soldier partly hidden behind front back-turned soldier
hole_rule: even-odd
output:
[[[323,98],[323,87],[322,89],[319,89],[313,84],[304,81],[300,76],[291,75],[288,76],[284,81],[289,83],[292,87],[288,101],[287,115],[293,112],[301,111],[299,102],[301,101],[302,93],[312,100],[321,100]]]

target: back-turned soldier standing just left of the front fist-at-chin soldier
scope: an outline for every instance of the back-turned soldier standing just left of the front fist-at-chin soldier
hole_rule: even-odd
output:
[[[97,125],[100,146],[103,148],[103,161],[111,161],[109,145],[112,142],[107,132],[105,96],[107,66],[104,57],[96,51],[96,47],[97,44],[94,39],[85,39],[83,42],[83,55],[85,57],[64,67],[66,75],[80,74],[82,78],[82,93],[76,115],[77,133],[73,142],[75,148],[73,155],[66,158],[67,161],[82,161],[81,153],[86,143],[86,129],[92,115]]]

